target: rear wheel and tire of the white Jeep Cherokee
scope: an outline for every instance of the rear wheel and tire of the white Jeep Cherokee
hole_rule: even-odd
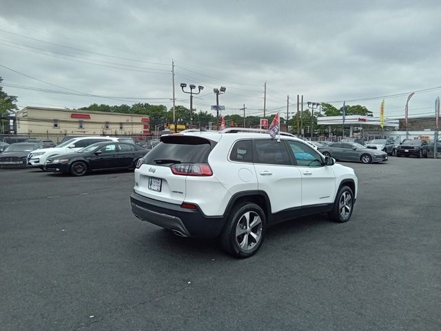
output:
[[[256,203],[236,205],[220,235],[223,249],[234,257],[251,257],[263,243],[266,223],[265,212]]]

